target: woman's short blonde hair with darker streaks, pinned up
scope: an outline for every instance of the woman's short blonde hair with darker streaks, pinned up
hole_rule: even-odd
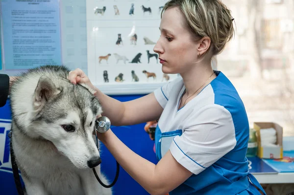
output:
[[[221,53],[234,35],[234,19],[221,0],[169,0],[162,9],[161,17],[171,7],[179,8],[185,18],[184,26],[195,39],[210,38],[213,55]]]

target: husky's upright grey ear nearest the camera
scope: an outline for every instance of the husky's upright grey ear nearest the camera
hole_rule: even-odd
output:
[[[58,88],[47,76],[41,76],[38,85],[35,89],[33,108],[39,113],[39,111],[45,106],[45,104],[53,97],[58,95],[62,91]]]

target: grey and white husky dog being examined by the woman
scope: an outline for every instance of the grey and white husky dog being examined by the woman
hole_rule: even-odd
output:
[[[28,195],[112,195],[99,178],[100,154],[93,139],[102,109],[93,91],[67,79],[65,66],[23,73],[11,88],[12,148]]]

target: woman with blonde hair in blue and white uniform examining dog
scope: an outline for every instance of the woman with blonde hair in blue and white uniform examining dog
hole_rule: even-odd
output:
[[[242,100],[211,59],[233,37],[230,10],[220,0],[171,0],[154,46],[162,71],[181,77],[142,98],[119,102],[95,88],[80,70],[72,83],[93,87],[113,125],[159,119],[155,165],[108,130],[99,139],[151,195],[260,195],[245,157],[249,125]],[[135,139],[134,139],[135,140]],[[255,186],[256,187],[255,187]]]

